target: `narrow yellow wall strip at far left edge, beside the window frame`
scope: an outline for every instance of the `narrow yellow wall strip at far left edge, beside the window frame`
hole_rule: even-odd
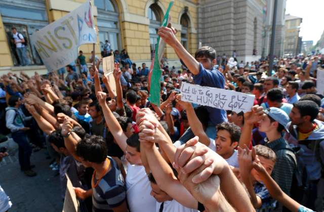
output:
[[[0,15],[0,66],[13,66],[4,23]]]

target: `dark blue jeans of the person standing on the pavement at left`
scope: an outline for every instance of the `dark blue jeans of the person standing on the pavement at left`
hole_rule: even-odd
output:
[[[18,144],[18,159],[22,170],[30,169],[31,146],[28,142],[26,132],[18,131],[11,134],[11,137]]]

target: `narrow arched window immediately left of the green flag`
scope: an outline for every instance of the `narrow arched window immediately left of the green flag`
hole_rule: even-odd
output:
[[[157,44],[157,30],[161,25],[161,17],[163,12],[157,4],[152,4],[148,8],[148,18],[150,19],[149,33],[150,33],[150,48],[151,58],[153,58],[155,46]]]

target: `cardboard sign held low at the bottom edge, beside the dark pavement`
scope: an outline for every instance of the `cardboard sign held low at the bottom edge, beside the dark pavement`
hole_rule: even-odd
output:
[[[62,212],[78,212],[79,209],[79,202],[76,198],[75,191],[73,189],[72,183],[65,174],[67,183],[66,183],[66,192],[65,192],[65,198],[64,198],[64,204],[63,204],[63,210]]]

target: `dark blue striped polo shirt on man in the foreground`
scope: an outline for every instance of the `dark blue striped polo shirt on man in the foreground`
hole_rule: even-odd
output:
[[[92,188],[92,211],[113,211],[113,207],[121,205],[126,200],[126,188],[123,175],[114,159],[110,160],[110,171],[100,180],[96,188]],[[94,180],[97,183],[97,180]]]

